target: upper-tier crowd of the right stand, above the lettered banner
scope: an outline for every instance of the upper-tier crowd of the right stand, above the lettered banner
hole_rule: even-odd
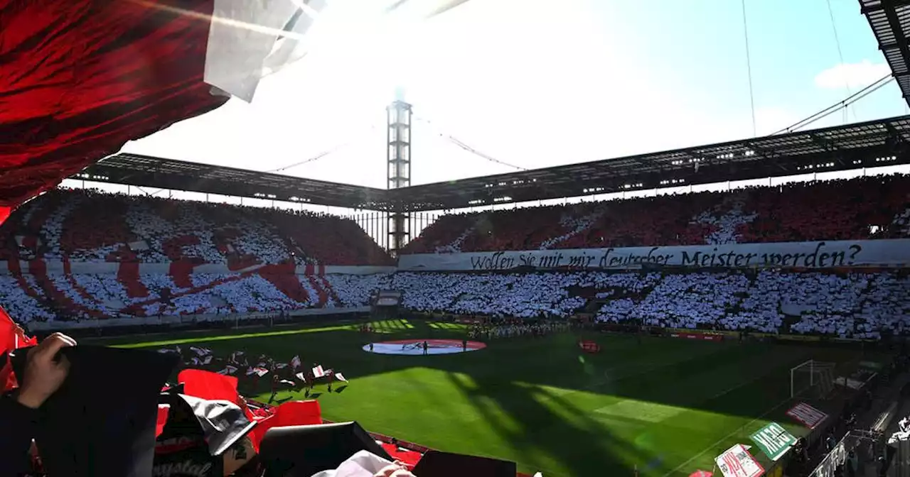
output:
[[[910,236],[910,176],[444,215],[407,253]]]

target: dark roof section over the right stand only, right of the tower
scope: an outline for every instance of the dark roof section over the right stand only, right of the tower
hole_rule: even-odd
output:
[[[910,163],[910,115],[409,187],[440,209]],[[396,198],[393,198],[393,200]],[[402,199],[398,197],[397,199]],[[424,204],[420,205],[422,208]]]

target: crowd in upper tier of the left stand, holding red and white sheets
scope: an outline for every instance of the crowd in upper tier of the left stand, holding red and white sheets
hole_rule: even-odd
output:
[[[56,189],[0,227],[0,260],[389,264],[353,221],[306,211]]]

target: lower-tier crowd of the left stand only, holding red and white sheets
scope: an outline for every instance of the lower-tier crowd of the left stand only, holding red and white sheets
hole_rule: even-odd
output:
[[[189,281],[141,274],[145,293],[133,295],[113,274],[51,274],[40,284],[27,273],[0,274],[0,305],[24,322],[350,308],[369,304],[388,275],[194,273]]]

